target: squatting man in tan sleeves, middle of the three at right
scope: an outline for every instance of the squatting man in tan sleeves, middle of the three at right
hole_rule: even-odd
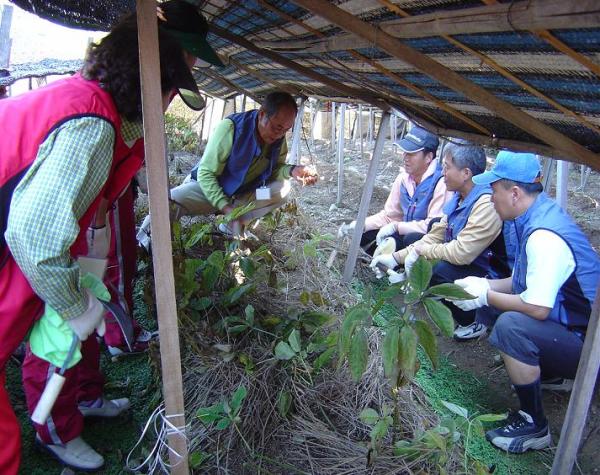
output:
[[[449,143],[444,149],[444,181],[454,195],[444,206],[444,216],[422,239],[394,254],[378,256],[371,262],[389,269],[404,264],[405,272],[419,255],[440,259],[434,268],[431,284],[453,282],[469,275],[484,277],[492,272],[491,256],[503,250],[502,221],[490,201],[489,185],[475,185],[473,175],[485,171],[483,148],[467,143]],[[376,272],[377,273],[377,272]],[[402,275],[388,271],[390,282]],[[507,275],[506,271],[504,275]],[[477,338],[486,332],[484,325],[474,323],[475,312],[464,311],[451,304],[452,316],[458,323],[454,332],[457,340]]]

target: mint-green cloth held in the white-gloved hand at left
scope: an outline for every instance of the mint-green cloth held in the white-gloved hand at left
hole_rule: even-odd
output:
[[[81,287],[85,287],[99,300],[110,301],[110,293],[99,277],[87,273],[81,278]],[[42,318],[31,329],[29,346],[31,352],[39,358],[61,367],[69,352],[73,340],[73,330],[67,322],[49,305]],[[68,368],[72,368],[81,360],[81,343],[73,354]],[[68,369],[67,368],[67,369]]]

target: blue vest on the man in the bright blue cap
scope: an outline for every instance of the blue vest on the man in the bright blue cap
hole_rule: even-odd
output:
[[[517,255],[513,271],[513,293],[520,294],[527,288],[525,246],[531,233],[545,229],[557,234],[571,249],[575,259],[575,270],[559,289],[548,318],[584,333],[600,279],[600,259],[588,239],[571,217],[546,193],[540,193],[533,205],[514,222]]]

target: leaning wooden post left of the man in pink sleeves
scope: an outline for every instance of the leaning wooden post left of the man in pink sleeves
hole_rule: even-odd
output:
[[[365,186],[360,198],[360,207],[358,208],[358,216],[356,216],[354,235],[352,236],[352,242],[350,243],[348,257],[346,258],[346,265],[344,267],[344,275],[342,277],[344,282],[350,282],[352,279],[352,274],[354,274],[354,267],[356,266],[356,259],[358,257],[358,248],[360,247],[360,238],[365,229],[365,219],[367,217],[367,212],[369,211],[371,196],[373,195],[373,187],[375,185],[377,168],[379,167],[379,159],[383,154],[383,144],[385,142],[385,134],[389,120],[389,112],[384,112],[381,117],[379,131],[377,132],[377,141],[375,142],[373,157],[371,158],[371,163],[369,163],[369,171],[367,172],[367,178],[365,179]]]

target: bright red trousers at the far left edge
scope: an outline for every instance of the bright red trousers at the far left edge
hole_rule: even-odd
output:
[[[44,304],[7,248],[0,262],[5,259],[0,269],[0,474],[13,475],[19,469],[21,431],[5,388],[6,363],[43,313]]]

